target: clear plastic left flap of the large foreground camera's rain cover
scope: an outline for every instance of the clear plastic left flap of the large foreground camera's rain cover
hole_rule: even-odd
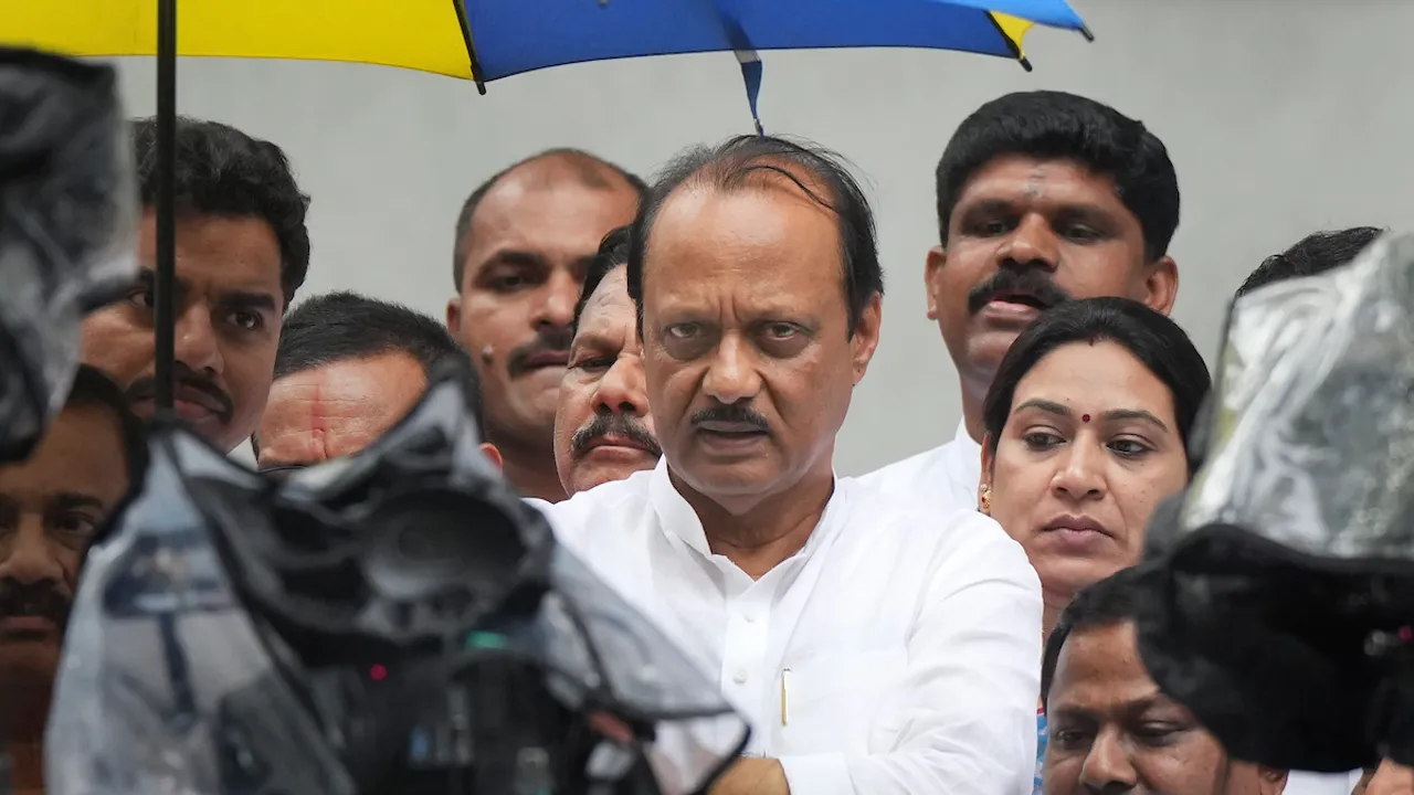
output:
[[[65,634],[45,733],[49,795],[233,792],[218,761],[222,706],[259,685],[259,731],[301,764],[279,771],[287,792],[349,795],[318,729],[274,675],[212,546],[192,478],[257,491],[204,441],[156,426],[143,491],[90,547]],[[262,682],[263,680],[263,682]],[[255,761],[255,767],[259,765]]]

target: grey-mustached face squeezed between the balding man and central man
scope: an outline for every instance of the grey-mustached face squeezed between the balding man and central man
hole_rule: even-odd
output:
[[[584,303],[560,385],[554,463],[566,494],[652,470],[662,455],[635,323],[626,269],[617,267]]]

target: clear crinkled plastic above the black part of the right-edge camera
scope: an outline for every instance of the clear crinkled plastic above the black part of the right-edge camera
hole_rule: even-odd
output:
[[[1178,536],[1239,525],[1318,557],[1414,562],[1414,236],[1240,298],[1215,400]]]

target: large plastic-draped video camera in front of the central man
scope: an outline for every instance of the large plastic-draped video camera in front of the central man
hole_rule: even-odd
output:
[[[479,450],[457,369],[274,481],[157,424],[89,552],[51,795],[676,795],[747,724]]]

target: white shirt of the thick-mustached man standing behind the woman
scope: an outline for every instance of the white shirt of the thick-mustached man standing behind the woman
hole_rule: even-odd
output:
[[[940,447],[895,461],[860,478],[884,494],[918,501],[936,516],[977,509],[981,480],[981,444],[957,423],[957,434]]]

